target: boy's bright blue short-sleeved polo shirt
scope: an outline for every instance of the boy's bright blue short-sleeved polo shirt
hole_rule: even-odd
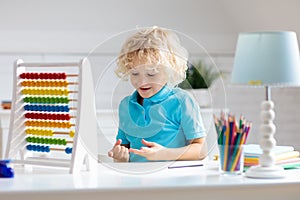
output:
[[[189,140],[205,137],[200,108],[190,94],[180,88],[164,86],[158,93],[138,103],[135,91],[119,105],[117,139],[130,148],[140,149],[145,139],[168,148],[179,148]],[[130,162],[145,162],[146,158],[130,153]]]

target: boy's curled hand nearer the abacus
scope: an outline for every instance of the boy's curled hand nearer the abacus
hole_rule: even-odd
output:
[[[114,147],[108,152],[108,156],[113,158],[115,162],[128,162],[129,151],[125,146],[121,146],[122,140],[119,139]]]

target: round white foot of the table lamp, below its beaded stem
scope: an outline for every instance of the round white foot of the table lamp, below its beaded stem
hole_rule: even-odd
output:
[[[245,175],[249,178],[284,178],[284,169],[280,166],[262,167],[261,165],[250,167]]]

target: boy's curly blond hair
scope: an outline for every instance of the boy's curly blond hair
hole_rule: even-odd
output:
[[[150,27],[139,29],[124,43],[117,60],[115,73],[128,80],[134,59],[143,59],[155,66],[166,66],[168,84],[175,86],[186,78],[188,52],[178,36],[167,29]]]

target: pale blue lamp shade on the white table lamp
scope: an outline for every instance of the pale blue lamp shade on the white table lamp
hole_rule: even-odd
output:
[[[239,34],[232,84],[300,86],[300,57],[295,32]]]

